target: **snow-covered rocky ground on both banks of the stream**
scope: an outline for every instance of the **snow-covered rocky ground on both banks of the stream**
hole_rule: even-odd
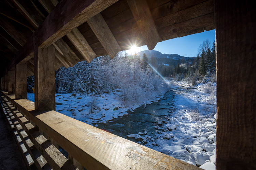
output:
[[[152,124],[158,133],[138,131],[138,134],[128,137],[200,168],[215,169],[216,119],[213,115],[216,113],[216,83],[189,87],[186,83],[177,82],[172,90],[175,92],[175,109],[170,110],[166,120]],[[120,89],[94,97],[87,94],[56,94],[56,111],[93,125],[122,117],[128,114],[128,110],[163,97],[127,107],[120,102],[119,95]],[[34,94],[28,94],[28,100],[34,101]]]

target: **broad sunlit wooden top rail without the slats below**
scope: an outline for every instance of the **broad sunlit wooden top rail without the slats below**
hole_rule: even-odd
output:
[[[34,102],[2,94],[86,169],[199,169],[55,111],[35,112]]]

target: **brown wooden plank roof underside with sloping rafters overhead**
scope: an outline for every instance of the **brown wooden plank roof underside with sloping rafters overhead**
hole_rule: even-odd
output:
[[[53,45],[57,70],[96,56],[114,57],[132,45],[154,49],[162,40],[215,29],[213,0],[0,2],[2,75],[20,62],[27,63],[28,75],[33,75],[32,46]],[[86,5],[87,11],[82,9]],[[80,17],[79,22],[66,23],[67,16],[71,20]]]

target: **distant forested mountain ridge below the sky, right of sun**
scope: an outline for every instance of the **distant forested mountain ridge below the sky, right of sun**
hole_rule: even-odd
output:
[[[142,56],[143,53],[145,53],[148,58],[153,56],[156,58],[170,58],[173,60],[181,60],[181,59],[191,60],[191,57],[184,57],[184,56],[180,56],[179,54],[162,54],[161,52],[156,50],[144,50],[144,51],[138,52],[137,55]]]

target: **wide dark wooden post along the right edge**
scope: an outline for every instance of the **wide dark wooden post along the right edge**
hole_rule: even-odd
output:
[[[216,168],[256,169],[256,13],[251,1],[215,0]]]

